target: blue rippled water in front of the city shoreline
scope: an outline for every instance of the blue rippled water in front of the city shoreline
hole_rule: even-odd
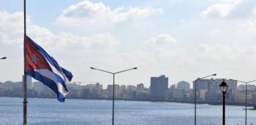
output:
[[[29,125],[110,125],[111,100],[28,99]],[[0,97],[0,124],[22,124],[22,98]],[[186,103],[116,100],[117,125],[190,125],[194,106]],[[226,125],[245,124],[243,106],[226,106]],[[251,108],[251,107],[250,107]],[[198,105],[198,125],[222,124],[222,106]],[[256,111],[248,110],[248,125]]]

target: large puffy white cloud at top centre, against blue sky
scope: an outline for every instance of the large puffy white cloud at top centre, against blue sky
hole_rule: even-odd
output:
[[[57,22],[63,25],[115,25],[129,20],[144,19],[155,13],[163,13],[161,9],[151,7],[118,7],[111,9],[102,2],[82,1],[70,5],[63,11]]]

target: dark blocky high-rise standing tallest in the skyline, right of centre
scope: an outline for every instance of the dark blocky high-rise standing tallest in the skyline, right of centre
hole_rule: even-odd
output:
[[[166,99],[168,90],[168,77],[161,75],[160,77],[151,77],[150,95],[151,99]]]

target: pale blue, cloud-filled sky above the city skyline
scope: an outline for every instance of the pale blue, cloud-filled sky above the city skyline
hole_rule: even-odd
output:
[[[22,75],[23,1],[0,1],[0,81]],[[111,83],[90,66],[137,71],[119,84],[144,83],[162,74],[169,84],[217,73],[249,81],[256,68],[256,2],[27,1],[28,35],[66,69],[73,81]],[[245,74],[245,72],[247,72]]]

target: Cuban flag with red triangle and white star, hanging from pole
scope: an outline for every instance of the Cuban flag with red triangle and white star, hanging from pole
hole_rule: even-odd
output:
[[[26,36],[26,74],[42,82],[57,94],[60,102],[69,93],[66,83],[72,80],[72,73],[58,65],[42,47]]]

